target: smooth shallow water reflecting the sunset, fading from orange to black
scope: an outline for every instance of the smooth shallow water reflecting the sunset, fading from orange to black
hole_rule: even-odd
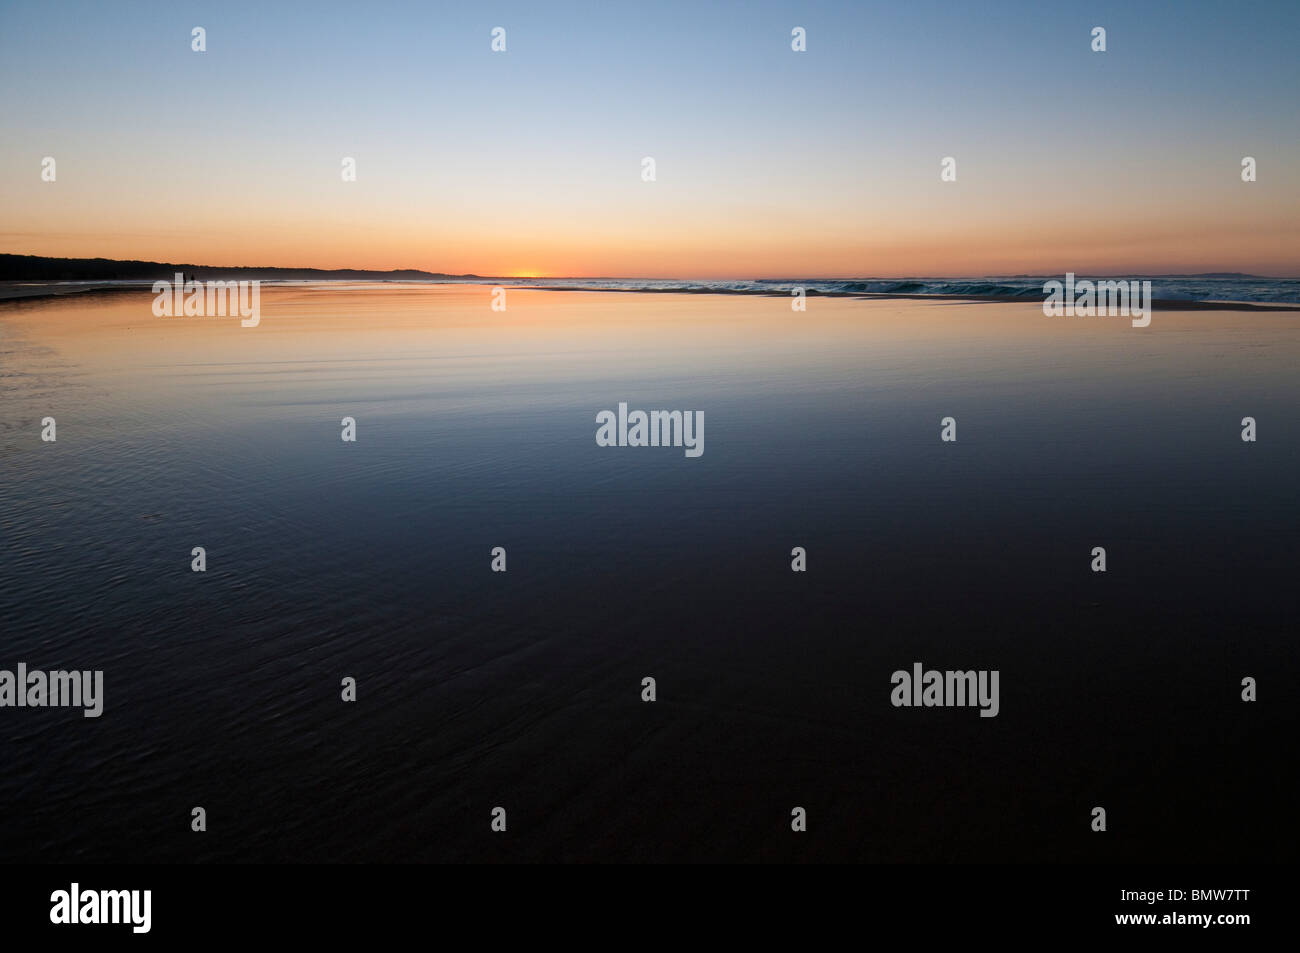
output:
[[[105,680],[0,709],[4,859],[1291,857],[1295,319],[490,300],[0,306],[0,668]]]

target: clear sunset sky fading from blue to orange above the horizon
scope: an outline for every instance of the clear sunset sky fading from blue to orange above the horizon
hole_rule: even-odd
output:
[[[1295,0],[0,0],[0,251],[1300,276],[1297,44]]]

